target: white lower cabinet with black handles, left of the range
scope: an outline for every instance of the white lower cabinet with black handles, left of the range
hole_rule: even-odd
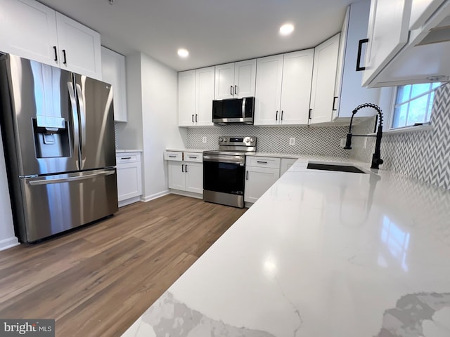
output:
[[[203,194],[203,154],[165,152],[169,189]]]

